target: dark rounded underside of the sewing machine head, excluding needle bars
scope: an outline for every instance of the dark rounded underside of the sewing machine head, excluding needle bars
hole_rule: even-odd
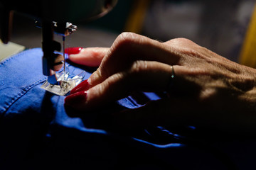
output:
[[[67,22],[90,21],[104,16],[117,4],[117,0],[38,0],[5,1],[0,0],[0,38],[9,41],[13,12],[22,13],[41,21],[55,21],[65,25]]]

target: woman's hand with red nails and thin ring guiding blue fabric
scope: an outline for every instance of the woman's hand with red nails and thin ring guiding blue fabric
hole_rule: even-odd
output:
[[[255,69],[231,62],[191,40],[158,42],[122,33],[110,49],[88,48],[78,56],[70,55],[70,60],[86,64],[97,58],[101,64],[65,98],[68,106],[86,110],[134,91],[167,91],[169,98],[116,113],[115,120],[129,128],[196,125],[225,132],[256,130]]]

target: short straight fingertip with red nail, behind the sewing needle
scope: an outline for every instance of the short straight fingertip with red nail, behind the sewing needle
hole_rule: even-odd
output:
[[[109,48],[107,47],[75,47],[67,48],[65,52],[69,55],[69,60],[76,64],[98,67],[108,50]]]

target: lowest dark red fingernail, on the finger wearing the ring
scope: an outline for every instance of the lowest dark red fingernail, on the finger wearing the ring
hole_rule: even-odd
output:
[[[87,99],[87,91],[80,91],[65,98],[65,104],[68,106],[79,106]]]

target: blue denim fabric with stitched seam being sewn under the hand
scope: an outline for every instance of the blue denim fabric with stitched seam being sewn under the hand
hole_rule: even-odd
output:
[[[0,169],[225,169],[212,152],[182,144],[161,127],[123,133],[100,128],[100,116],[111,123],[107,113],[143,105],[131,96],[95,113],[65,108],[65,96],[40,88],[46,81],[42,55],[35,48],[0,63]],[[70,65],[71,74],[81,71]]]

